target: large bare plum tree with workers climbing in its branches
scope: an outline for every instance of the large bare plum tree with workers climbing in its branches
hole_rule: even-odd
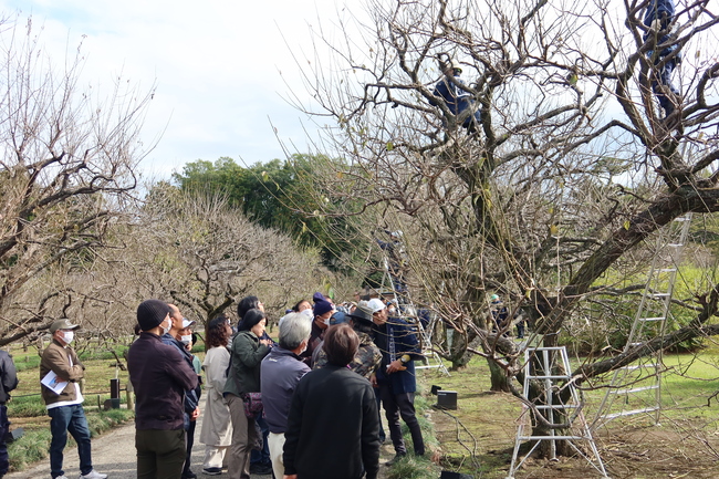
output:
[[[582,304],[622,293],[629,275],[607,271],[640,270],[657,230],[719,210],[719,19],[708,1],[679,2],[665,39],[644,23],[648,6],[369,1],[315,30],[314,56],[298,58],[315,102],[298,107],[325,118],[319,147],[348,164],[327,165],[319,195],[415,231],[410,287],[455,332],[452,351],[437,347],[455,365],[487,357],[496,388],[513,389],[520,351],[488,327],[489,293],[556,345]],[[653,88],[679,52],[681,95]],[[716,291],[696,293],[690,324],[585,365],[576,382],[716,334]]]

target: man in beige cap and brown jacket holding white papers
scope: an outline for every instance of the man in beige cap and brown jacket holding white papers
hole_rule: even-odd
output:
[[[66,479],[62,469],[63,450],[67,444],[67,433],[77,442],[81,479],[105,479],[107,475],[93,469],[90,445],[90,428],[82,407],[84,400],[80,392],[80,379],[85,375],[85,366],[70,347],[75,330],[80,327],[70,320],[58,320],[50,325],[52,343],[42,353],[40,362],[40,383],[42,398],[50,416],[50,473],[53,479]]]

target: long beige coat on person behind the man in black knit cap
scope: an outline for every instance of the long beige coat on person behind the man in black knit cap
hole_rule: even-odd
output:
[[[222,389],[227,381],[227,366],[230,364],[230,352],[227,347],[210,347],[205,355],[205,394],[207,405],[202,418],[200,442],[207,446],[226,447],[232,444],[232,424],[230,409],[222,398]]]

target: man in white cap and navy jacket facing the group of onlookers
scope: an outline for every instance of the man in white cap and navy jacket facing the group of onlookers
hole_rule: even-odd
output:
[[[375,323],[374,341],[382,352],[382,364],[373,385],[379,389],[389,425],[389,437],[395,447],[396,456],[387,462],[390,466],[407,455],[399,427],[400,415],[411,434],[415,456],[425,454],[425,441],[415,415],[417,382],[414,360],[421,358],[421,353],[417,335],[407,322],[399,317],[388,321],[385,303],[376,298],[369,300],[367,306],[373,312],[372,320]]]

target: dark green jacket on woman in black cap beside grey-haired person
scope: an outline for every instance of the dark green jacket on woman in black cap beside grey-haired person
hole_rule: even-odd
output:
[[[223,394],[241,396],[242,393],[260,392],[260,364],[270,347],[260,344],[251,331],[241,331],[230,346],[230,369]]]

